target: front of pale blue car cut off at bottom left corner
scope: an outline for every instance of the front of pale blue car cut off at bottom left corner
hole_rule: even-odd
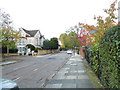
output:
[[[19,90],[19,88],[14,81],[0,78],[0,90]]]

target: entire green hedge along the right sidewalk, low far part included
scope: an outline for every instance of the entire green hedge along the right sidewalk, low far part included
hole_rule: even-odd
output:
[[[85,56],[105,88],[120,88],[120,25],[106,31],[98,45],[86,48]]]

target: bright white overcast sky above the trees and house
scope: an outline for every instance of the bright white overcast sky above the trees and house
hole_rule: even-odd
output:
[[[14,27],[40,30],[46,39],[59,38],[79,22],[95,25],[96,16],[115,0],[0,0],[0,8],[9,13]]]

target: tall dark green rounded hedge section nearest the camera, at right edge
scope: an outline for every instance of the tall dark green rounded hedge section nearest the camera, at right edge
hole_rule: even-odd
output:
[[[101,82],[107,88],[120,88],[120,25],[105,32],[100,41]]]

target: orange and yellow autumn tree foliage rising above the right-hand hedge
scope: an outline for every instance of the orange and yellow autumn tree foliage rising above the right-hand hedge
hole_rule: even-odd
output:
[[[104,10],[104,12],[107,14],[107,17],[103,18],[102,16],[94,16],[94,19],[97,21],[97,26],[80,23],[80,25],[83,25],[88,31],[96,31],[92,34],[94,40],[91,39],[90,35],[88,35],[88,39],[91,45],[99,44],[99,41],[104,33],[117,24],[115,22],[117,19],[117,15],[115,15],[117,9],[115,8],[115,5],[116,1],[110,5],[109,9]]]

